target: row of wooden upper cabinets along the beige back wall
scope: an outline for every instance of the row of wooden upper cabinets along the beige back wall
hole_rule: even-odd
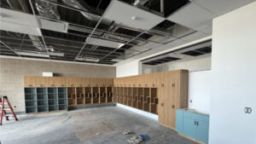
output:
[[[113,78],[68,78],[25,76],[24,87],[113,86]]]

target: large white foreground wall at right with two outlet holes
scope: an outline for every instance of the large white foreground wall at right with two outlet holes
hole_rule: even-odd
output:
[[[210,144],[256,143],[255,15],[256,2],[213,20]]]

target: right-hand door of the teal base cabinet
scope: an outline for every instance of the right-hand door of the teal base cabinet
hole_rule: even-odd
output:
[[[195,139],[198,141],[203,141],[205,143],[208,143],[208,129],[209,129],[209,123],[205,121],[197,120],[198,125],[196,128],[196,137]]]

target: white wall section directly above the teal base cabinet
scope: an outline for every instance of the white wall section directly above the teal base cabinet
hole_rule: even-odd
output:
[[[211,71],[189,72],[189,108],[209,114]]]

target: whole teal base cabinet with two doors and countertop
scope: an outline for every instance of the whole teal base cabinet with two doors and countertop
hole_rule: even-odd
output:
[[[195,140],[208,143],[209,116],[195,110],[178,109],[176,111],[176,131]]]

